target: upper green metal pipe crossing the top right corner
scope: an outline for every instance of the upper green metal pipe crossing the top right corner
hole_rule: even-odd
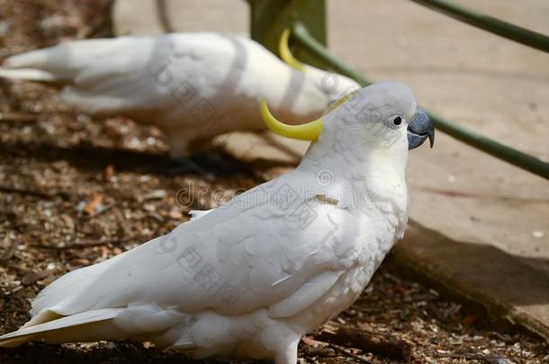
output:
[[[484,31],[498,34],[508,40],[514,40],[526,46],[543,50],[549,53],[549,37],[536,31],[529,31],[526,28],[519,27],[504,22],[500,19],[491,17],[483,13],[478,13],[462,5],[454,4],[448,0],[411,0],[414,3],[427,6],[439,13],[444,13],[461,22],[466,22]],[[517,6],[520,4],[517,3]]]

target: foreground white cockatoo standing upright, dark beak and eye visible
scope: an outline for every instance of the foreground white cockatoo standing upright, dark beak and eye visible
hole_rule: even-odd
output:
[[[40,292],[23,342],[130,338],[189,351],[294,364],[302,335],[360,295],[407,223],[408,150],[434,129],[410,88],[351,93],[319,120],[266,123],[312,140],[291,173],[195,213],[171,233]]]

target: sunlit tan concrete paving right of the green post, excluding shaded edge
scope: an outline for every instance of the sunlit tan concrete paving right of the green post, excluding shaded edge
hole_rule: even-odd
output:
[[[401,0],[329,2],[329,47],[433,111],[549,158],[549,55]],[[549,33],[549,3],[460,1]],[[359,41],[356,42],[356,31]],[[452,138],[410,157],[411,216],[456,241],[490,242],[549,271],[549,184]]]

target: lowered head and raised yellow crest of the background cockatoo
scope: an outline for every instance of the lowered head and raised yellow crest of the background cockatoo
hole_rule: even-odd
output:
[[[316,91],[324,95],[324,99],[326,100],[326,105],[324,107],[329,107],[329,105],[338,101],[347,93],[360,88],[360,84],[345,75],[338,75],[317,67],[305,65],[294,58],[288,47],[289,38],[290,30],[286,29],[283,31],[278,44],[281,58],[288,66],[296,71],[302,72],[304,77],[317,89]]]

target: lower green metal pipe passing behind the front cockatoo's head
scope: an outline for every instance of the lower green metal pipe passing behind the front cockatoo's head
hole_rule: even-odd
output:
[[[309,34],[309,31],[299,22],[293,25],[293,39],[299,42],[302,47],[309,50],[313,56],[320,58],[322,62],[329,65],[334,71],[353,78],[357,83],[362,84],[363,86],[372,84],[372,81],[364,75],[361,75],[356,70],[348,67],[338,58],[331,55],[328,49],[314,40]],[[477,149],[481,149],[483,152],[493,155],[509,164],[516,165],[528,172],[549,179],[549,164],[535,156],[527,155],[515,148],[503,145],[491,138],[484,137],[471,129],[464,128],[451,120],[447,120],[436,113],[428,112],[428,114],[435,123],[437,129],[449,136]]]

